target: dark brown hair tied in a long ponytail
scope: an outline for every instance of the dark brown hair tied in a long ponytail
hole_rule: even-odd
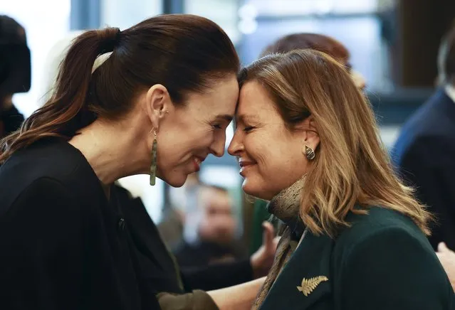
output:
[[[92,74],[98,55],[111,51]],[[69,139],[98,117],[122,117],[152,85],[164,85],[172,102],[184,105],[187,92],[202,92],[238,71],[239,57],[229,37],[200,16],[162,15],[124,31],[87,31],[70,46],[48,102],[19,132],[1,141],[0,163],[43,137]]]

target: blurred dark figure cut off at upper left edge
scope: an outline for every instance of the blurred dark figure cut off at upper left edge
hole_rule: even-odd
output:
[[[25,29],[13,18],[0,15],[0,138],[21,127],[23,115],[14,107],[13,95],[28,92],[31,59]]]

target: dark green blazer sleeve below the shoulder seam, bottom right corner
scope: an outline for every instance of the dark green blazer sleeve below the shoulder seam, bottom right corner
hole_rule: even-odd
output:
[[[453,309],[453,289],[423,241],[388,228],[354,245],[337,280],[340,309]]]

